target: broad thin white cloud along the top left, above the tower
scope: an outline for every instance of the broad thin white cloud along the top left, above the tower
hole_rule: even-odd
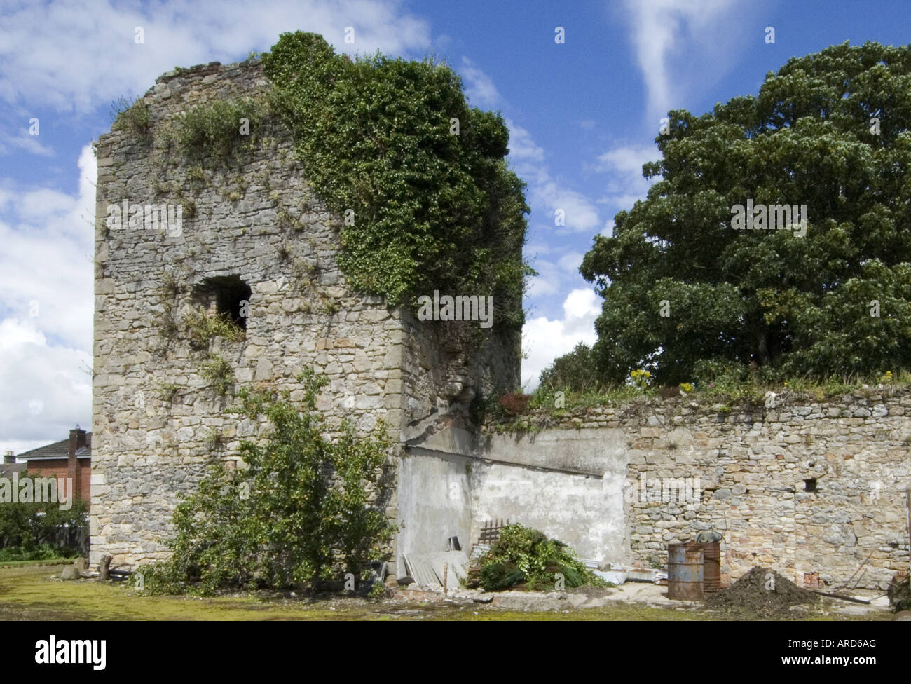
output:
[[[141,26],[145,42],[134,42]],[[354,43],[344,43],[346,26]],[[165,71],[268,50],[281,33],[322,34],[336,49],[423,51],[426,22],[398,0],[55,0],[7,11],[0,24],[0,99],[21,107],[89,112],[145,92]]]

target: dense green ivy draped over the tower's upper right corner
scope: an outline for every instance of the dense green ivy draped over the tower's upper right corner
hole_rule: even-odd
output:
[[[468,107],[459,77],[431,60],[351,60],[297,32],[262,63],[304,176],[347,212],[341,266],[353,286],[390,304],[493,294],[496,322],[521,326],[528,208],[502,117]]]

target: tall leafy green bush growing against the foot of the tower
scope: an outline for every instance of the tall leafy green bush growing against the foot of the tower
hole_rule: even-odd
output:
[[[301,405],[291,403],[288,392],[238,393],[234,413],[254,421],[266,416],[269,439],[241,443],[246,467],[211,465],[199,490],[179,503],[173,556],[139,569],[147,591],[313,587],[340,571],[361,573],[380,554],[395,530],[383,510],[368,503],[382,488],[391,446],[384,426],[357,438],[344,424],[342,437],[330,442],[316,411],[317,393],[328,381],[310,369],[298,381]]]

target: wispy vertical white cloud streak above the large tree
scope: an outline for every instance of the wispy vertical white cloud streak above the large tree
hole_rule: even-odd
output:
[[[708,87],[732,68],[755,14],[745,0],[626,0],[632,43],[648,91],[647,116],[658,120],[693,87]],[[761,34],[757,34],[761,40]],[[711,65],[711,70],[698,68]]]

